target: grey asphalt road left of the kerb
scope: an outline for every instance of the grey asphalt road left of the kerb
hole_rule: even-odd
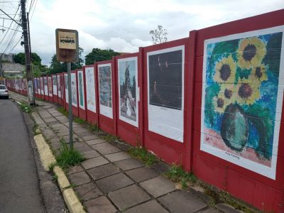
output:
[[[21,111],[0,99],[0,212],[45,212],[39,185]]]

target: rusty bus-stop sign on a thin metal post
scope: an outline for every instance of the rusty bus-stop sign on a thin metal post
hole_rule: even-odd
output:
[[[71,62],[79,60],[78,32],[75,30],[56,29],[55,34],[57,60],[67,62],[69,142],[70,148],[73,148]]]

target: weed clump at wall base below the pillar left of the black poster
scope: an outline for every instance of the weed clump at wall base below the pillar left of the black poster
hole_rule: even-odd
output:
[[[155,157],[155,155],[148,153],[145,148],[131,147],[128,152],[132,157],[142,160],[143,163],[146,163],[148,166],[158,162],[158,159]]]

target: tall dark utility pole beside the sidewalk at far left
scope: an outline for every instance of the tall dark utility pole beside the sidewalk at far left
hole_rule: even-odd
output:
[[[28,26],[26,18],[26,0],[21,0],[22,10],[22,28],[23,28],[23,43],[26,56],[26,79],[28,83],[28,103],[35,105],[34,91],[33,91],[33,75],[31,72],[31,53],[28,45]]]

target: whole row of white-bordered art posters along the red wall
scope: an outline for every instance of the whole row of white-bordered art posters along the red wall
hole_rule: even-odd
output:
[[[283,32],[279,26],[204,40],[202,70],[200,150],[274,180],[283,104]],[[119,119],[138,126],[138,59],[119,59],[117,66]],[[148,130],[180,143],[184,67],[184,45],[147,53]],[[112,119],[111,68],[110,63],[98,65],[98,92],[100,113]],[[85,75],[77,72],[77,78],[78,88],[76,76],[71,77],[72,104],[77,104],[78,91],[84,108],[85,81],[86,107],[96,112],[94,67],[85,67]]]

